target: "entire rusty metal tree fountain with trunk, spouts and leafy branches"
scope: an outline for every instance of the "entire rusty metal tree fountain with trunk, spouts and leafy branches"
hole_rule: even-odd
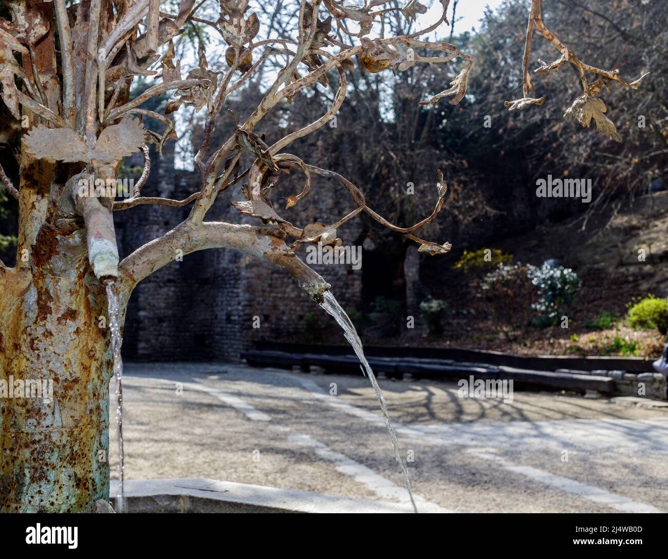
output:
[[[442,15],[432,25],[415,32],[406,29],[426,12],[417,0],[403,7],[396,3],[384,7],[389,0],[367,0],[362,7],[301,0],[294,26],[286,23],[289,18],[280,17],[281,10],[291,9],[283,3],[277,3],[278,15],[273,17],[264,11],[261,16],[248,15],[248,0],[220,0],[217,19],[210,19],[204,1],[180,0],[177,13],[162,11],[164,3],[81,0],[68,8],[65,0],[10,0],[11,21],[0,20],[1,93],[11,118],[20,123],[19,185],[2,174],[7,192],[19,202],[19,235],[17,265],[9,268],[0,263],[0,378],[9,383],[14,378],[47,377],[54,383],[53,401],[2,399],[3,510],[92,511],[96,499],[108,498],[112,350],[104,284],[114,282],[118,290],[122,322],[132,290],[148,275],[180,255],[224,247],[285,269],[320,302],[331,286],[297,257],[297,251],[305,243],[340,245],[337,229],[362,212],[418,242],[420,251],[437,254],[450,249],[450,243],[413,234],[442,208],[446,185],[440,171],[432,213],[412,227],[399,227],[373,211],[345,177],[285,151],[339,110],[353,58],[369,73],[401,72],[416,64],[460,58],[464,68],[452,87],[421,102],[431,105],[450,98],[451,104],[459,103],[466,94],[472,59],[450,43],[420,39],[447,23],[448,0],[440,0]],[[539,8],[534,2],[529,35],[534,25],[543,29]],[[198,66],[182,76],[174,39],[186,29],[198,35],[200,27],[195,24],[222,37],[228,68],[212,69],[198,37]],[[261,34],[263,26],[266,31]],[[548,31],[542,32],[549,37]],[[621,82],[614,72],[602,73],[577,61],[565,47],[558,48],[583,75],[594,72]],[[269,58],[274,66],[265,68]],[[228,113],[228,96],[262,68],[267,86],[259,104],[244,118]],[[156,83],[131,98],[138,76]],[[530,89],[530,80],[525,80]],[[336,94],[317,120],[283,137],[280,128],[261,131],[263,118],[278,104],[330,81],[337,84]],[[584,77],[582,81],[581,108],[589,110],[598,82],[588,84]],[[260,80],[255,84],[259,86]],[[625,85],[635,87],[637,82]],[[175,92],[166,114],[182,106],[205,114],[201,144],[193,158],[200,189],[184,200],[141,193],[150,173],[148,145],[160,151],[176,136],[170,118],[142,104],[166,92]],[[526,100],[516,102],[522,104]],[[214,131],[228,116],[234,122],[233,132],[220,145],[212,145]],[[162,134],[148,128],[145,121],[152,120],[166,124]],[[269,136],[277,137],[270,143]],[[132,196],[117,201],[122,159],[139,151],[144,153],[144,173]],[[242,153],[253,160],[246,169],[240,165]],[[300,193],[288,197],[287,207],[299,203],[309,193],[313,177],[320,176],[343,185],[356,208],[333,223],[303,227],[289,223],[275,209],[271,193],[291,169],[303,173],[304,185]],[[244,199],[234,206],[261,225],[206,221],[218,194],[235,185],[240,185]],[[112,212],[142,204],[192,207],[177,227],[119,261]]]

